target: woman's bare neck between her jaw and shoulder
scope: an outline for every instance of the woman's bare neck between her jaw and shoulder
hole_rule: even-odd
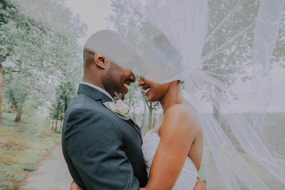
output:
[[[168,89],[167,93],[162,97],[162,99],[159,101],[162,110],[163,115],[166,113],[168,108],[175,104],[181,104],[183,103],[184,97],[181,92],[181,85],[180,84],[173,84]]]

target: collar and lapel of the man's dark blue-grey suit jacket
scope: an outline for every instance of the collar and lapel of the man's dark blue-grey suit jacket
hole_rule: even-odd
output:
[[[86,84],[79,84],[77,93],[86,94],[87,96],[91,97],[92,99],[94,99],[96,101],[101,99],[102,103],[112,101],[112,99],[109,96],[107,96],[106,94],[104,94],[103,92],[101,92],[101,91],[97,90],[96,88],[93,88],[89,85],[86,85]],[[105,107],[104,105],[102,105],[102,106]],[[105,107],[105,108],[108,109],[107,107]],[[136,132],[140,136],[140,140],[143,143],[143,137],[142,137],[142,134],[140,133],[140,129],[137,126],[137,124],[133,123],[131,121],[131,119],[125,120],[125,121],[127,121],[129,123],[129,125],[131,125],[132,128],[134,130],[136,130]]]

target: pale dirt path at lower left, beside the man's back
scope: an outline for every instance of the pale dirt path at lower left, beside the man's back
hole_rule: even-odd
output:
[[[60,144],[37,165],[37,170],[28,173],[26,183],[18,190],[68,190],[71,180]]]

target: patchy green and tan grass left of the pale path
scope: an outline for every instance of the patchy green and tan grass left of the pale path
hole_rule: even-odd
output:
[[[9,111],[11,112],[11,111]],[[29,171],[61,141],[40,115],[23,113],[14,121],[15,112],[3,111],[0,124],[0,190],[17,189]]]

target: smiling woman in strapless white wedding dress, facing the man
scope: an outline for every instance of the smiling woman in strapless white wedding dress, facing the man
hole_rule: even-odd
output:
[[[164,47],[160,56],[179,61],[178,52],[165,37],[157,37],[153,45]],[[148,50],[141,56],[159,61]],[[182,95],[181,81],[157,84],[140,77],[138,85],[148,102],[159,101],[163,109],[153,130],[143,139],[149,173],[145,189],[194,189],[202,162],[203,134],[197,111]]]

